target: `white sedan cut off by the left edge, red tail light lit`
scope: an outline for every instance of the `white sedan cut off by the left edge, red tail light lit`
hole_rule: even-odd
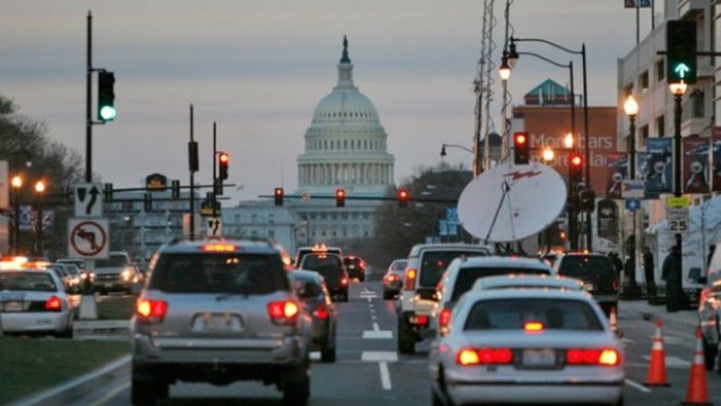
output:
[[[51,271],[0,271],[0,328],[4,334],[73,337],[73,311],[63,282]]]

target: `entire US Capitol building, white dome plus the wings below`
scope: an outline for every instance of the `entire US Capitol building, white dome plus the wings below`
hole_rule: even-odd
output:
[[[272,238],[291,254],[296,246],[374,236],[381,202],[352,198],[385,196],[394,184],[394,156],[386,150],[388,134],[375,106],[353,82],[346,38],[337,69],[337,85],[315,108],[298,155],[293,194],[306,198],[286,198],[283,207],[272,199],[224,207],[224,235]],[[345,189],[345,207],[335,206],[336,189]]]

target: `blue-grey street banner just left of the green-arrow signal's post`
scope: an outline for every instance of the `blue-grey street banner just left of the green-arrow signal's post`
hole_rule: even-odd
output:
[[[638,155],[637,178],[646,183],[646,199],[658,199],[663,193],[671,193],[673,186],[673,139],[650,138],[646,141],[646,152]]]

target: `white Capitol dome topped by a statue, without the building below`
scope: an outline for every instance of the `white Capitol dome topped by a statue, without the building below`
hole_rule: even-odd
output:
[[[298,192],[383,196],[394,183],[394,157],[375,106],[353,83],[348,40],[343,38],[338,81],[316,106],[298,156]]]

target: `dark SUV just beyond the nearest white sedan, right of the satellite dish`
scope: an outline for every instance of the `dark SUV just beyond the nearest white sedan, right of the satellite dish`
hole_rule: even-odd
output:
[[[619,306],[619,275],[611,259],[603,254],[571,252],[559,254],[554,263],[558,275],[583,280],[583,289],[606,312]]]

